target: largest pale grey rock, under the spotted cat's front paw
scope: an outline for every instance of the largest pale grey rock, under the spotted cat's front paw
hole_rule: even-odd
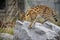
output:
[[[60,40],[57,29],[52,26],[49,27],[50,22],[45,22],[44,24],[36,22],[32,29],[29,29],[30,22],[19,20],[16,21],[15,31],[14,31],[14,40]],[[52,23],[53,24],[53,23]],[[46,27],[47,26],[47,27]]]

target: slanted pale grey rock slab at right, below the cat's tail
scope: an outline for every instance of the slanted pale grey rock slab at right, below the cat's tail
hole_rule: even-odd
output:
[[[59,38],[60,38],[60,27],[47,21],[43,24],[46,28],[48,29],[51,29],[52,31],[55,31],[58,35],[59,35]]]

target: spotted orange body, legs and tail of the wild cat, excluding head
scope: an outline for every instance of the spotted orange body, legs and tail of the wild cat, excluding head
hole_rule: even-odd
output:
[[[33,25],[39,19],[39,16],[45,19],[42,23],[47,20],[51,21],[52,19],[57,21],[56,12],[52,8],[45,5],[37,5],[26,11],[25,19],[32,22],[30,24],[30,28],[31,25]]]

